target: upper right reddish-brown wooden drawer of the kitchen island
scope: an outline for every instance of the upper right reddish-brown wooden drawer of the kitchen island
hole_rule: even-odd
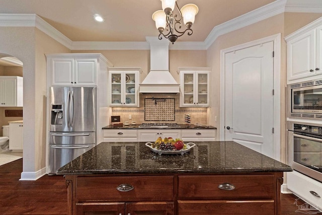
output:
[[[220,189],[219,185],[224,189]],[[229,185],[233,185],[234,188]],[[178,197],[273,199],[274,175],[179,176]]]

